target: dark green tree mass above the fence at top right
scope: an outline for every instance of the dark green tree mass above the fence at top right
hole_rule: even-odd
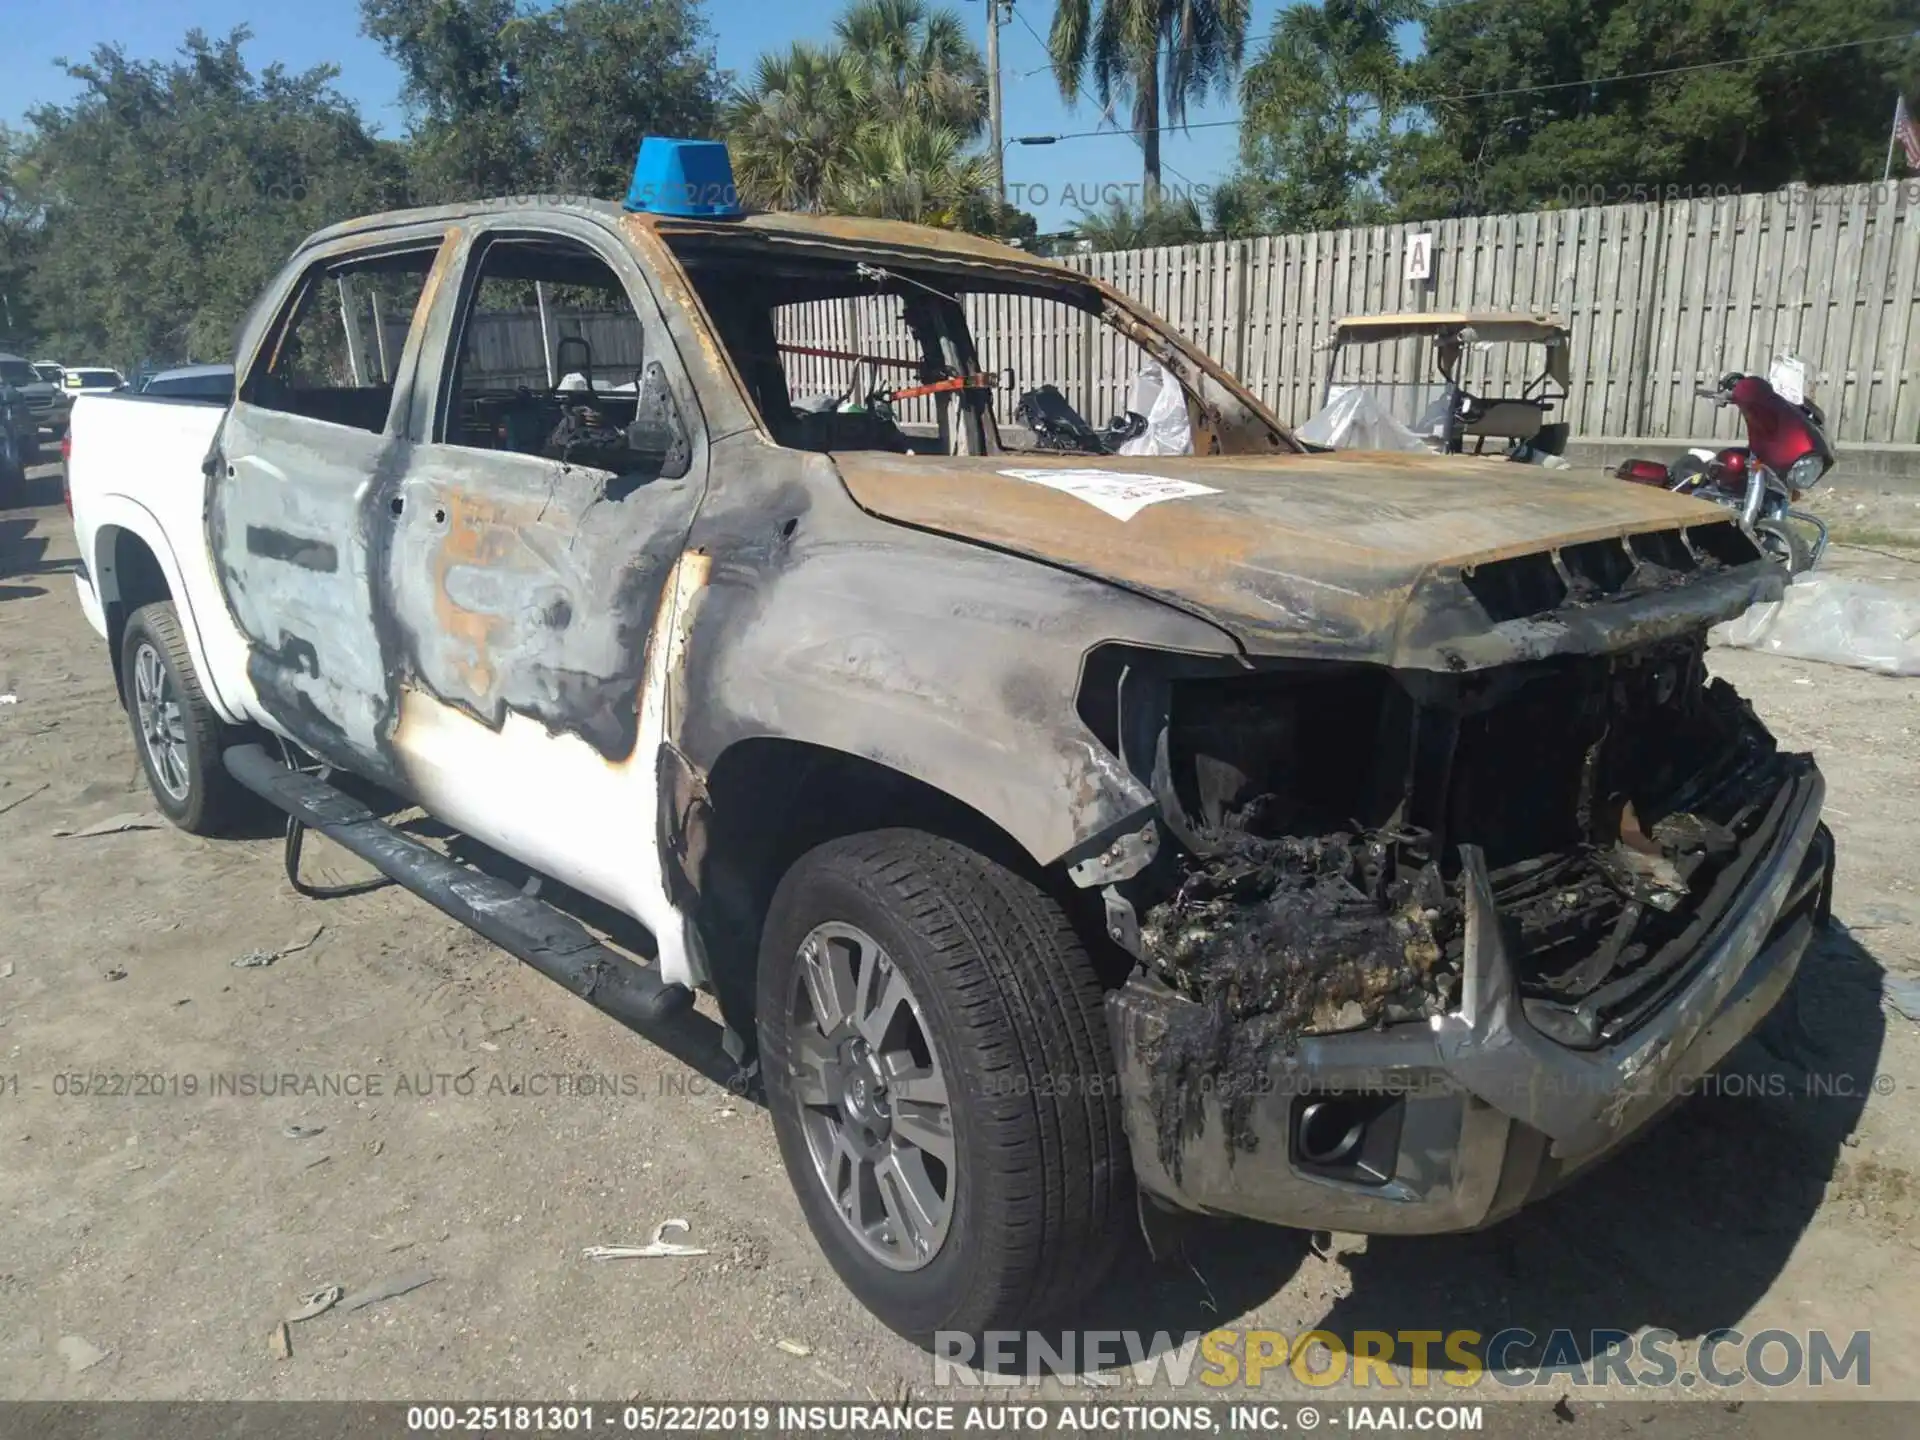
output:
[[[1400,213],[1430,217],[1880,179],[1893,96],[1920,81],[1920,44],[1884,40],[1916,27],[1916,0],[1436,8],[1411,75],[1425,119],[1386,190]],[[1763,58],[1605,79],[1741,56]]]

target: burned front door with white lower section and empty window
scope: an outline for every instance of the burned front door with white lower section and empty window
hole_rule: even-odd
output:
[[[682,476],[616,476],[445,440],[453,384],[497,244],[557,242],[605,263],[689,440]],[[409,457],[384,478],[392,753],[438,818],[639,920],[662,979],[705,977],[662,870],[659,756],[674,616],[708,436],[655,288],[628,240],[589,217],[474,221],[426,321]],[[636,396],[637,396],[636,374]]]

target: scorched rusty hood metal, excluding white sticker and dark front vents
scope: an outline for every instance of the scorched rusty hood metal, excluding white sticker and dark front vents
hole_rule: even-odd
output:
[[[1496,624],[1465,584],[1476,564],[1528,553],[1546,561],[1549,547],[1620,543],[1624,536],[1678,532],[1686,522],[1726,524],[1722,511],[1665,492],[1642,488],[1622,497],[1630,488],[1615,482],[1557,488],[1457,467],[1444,482],[1394,470],[1361,478],[1352,467],[1321,467],[1319,457],[1281,457],[1265,467],[1102,459],[1102,470],[1192,480],[1217,492],[1148,505],[1119,520],[1075,495],[1000,474],[1004,457],[835,459],[849,492],[874,515],[1112,580],[1204,616],[1261,655],[1484,668],[1682,634],[1780,586],[1774,568],[1759,563],[1709,564],[1678,589],[1636,576],[1607,597],[1605,614],[1586,614],[1590,601],[1565,595],[1571,605]],[[1085,465],[1021,457],[1027,468]]]

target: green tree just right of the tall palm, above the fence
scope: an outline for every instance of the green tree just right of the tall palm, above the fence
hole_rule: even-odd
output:
[[[1379,175],[1407,90],[1396,31],[1425,0],[1283,10],[1240,81],[1240,165],[1213,198],[1227,234],[1331,230],[1384,217]]]

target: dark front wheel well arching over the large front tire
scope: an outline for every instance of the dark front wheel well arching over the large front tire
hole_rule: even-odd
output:
[[[1100,924],[1098,895],[1073,885],[1062,866],[1037,864],[973,806],[877,760],[791,739],[737,741],[708,772],[707,803],[695,918],[720,1006],[747,1037],[760,925],[774,889],[806,851],[841,835],[899,826],[966,845],[1052,895],[1096,962],[1116,948]]]

